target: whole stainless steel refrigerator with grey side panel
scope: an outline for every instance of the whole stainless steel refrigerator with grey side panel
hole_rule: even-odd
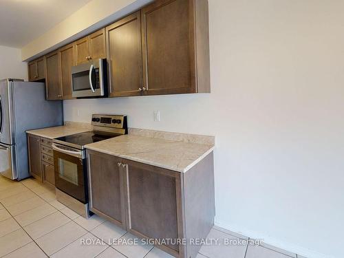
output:
[[[29,177],[25,131],[63,125],[61,100],[45,100],[45,84],[0,80],[0,173],[12,180]]]

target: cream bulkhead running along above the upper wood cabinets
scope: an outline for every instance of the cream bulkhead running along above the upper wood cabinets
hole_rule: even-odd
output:
[[[92,0],[61,21],[39,38],[34,39],[22,50],[23,61],[32,60],[47,54],[58,47],[67,45],[76,39],[103,28],[116,19],[120,19],[138,10],[152,0]]]

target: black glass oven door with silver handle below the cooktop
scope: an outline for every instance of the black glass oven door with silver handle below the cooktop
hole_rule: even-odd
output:
[[[87,204],[85,151],[61,144],[52,144],[54,150],[55,186],[83,204]]]

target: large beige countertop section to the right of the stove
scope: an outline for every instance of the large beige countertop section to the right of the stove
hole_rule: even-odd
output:
[[[151,138],[129,133],[125,136],[87,144],[85,148],[184,173],[211,153],[214,145]]]

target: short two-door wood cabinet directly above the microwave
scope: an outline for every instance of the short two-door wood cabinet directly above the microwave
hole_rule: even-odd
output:
[[[105,28],[74,42],[76,65],[92,59],[106,58]]]

